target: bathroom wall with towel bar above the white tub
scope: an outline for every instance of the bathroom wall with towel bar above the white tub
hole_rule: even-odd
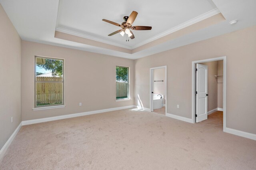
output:
[[[165,104],[165,68],[154,69],[154,94],[164,95],[164,104]],[[164,81],[159,81],[164,80]]]

